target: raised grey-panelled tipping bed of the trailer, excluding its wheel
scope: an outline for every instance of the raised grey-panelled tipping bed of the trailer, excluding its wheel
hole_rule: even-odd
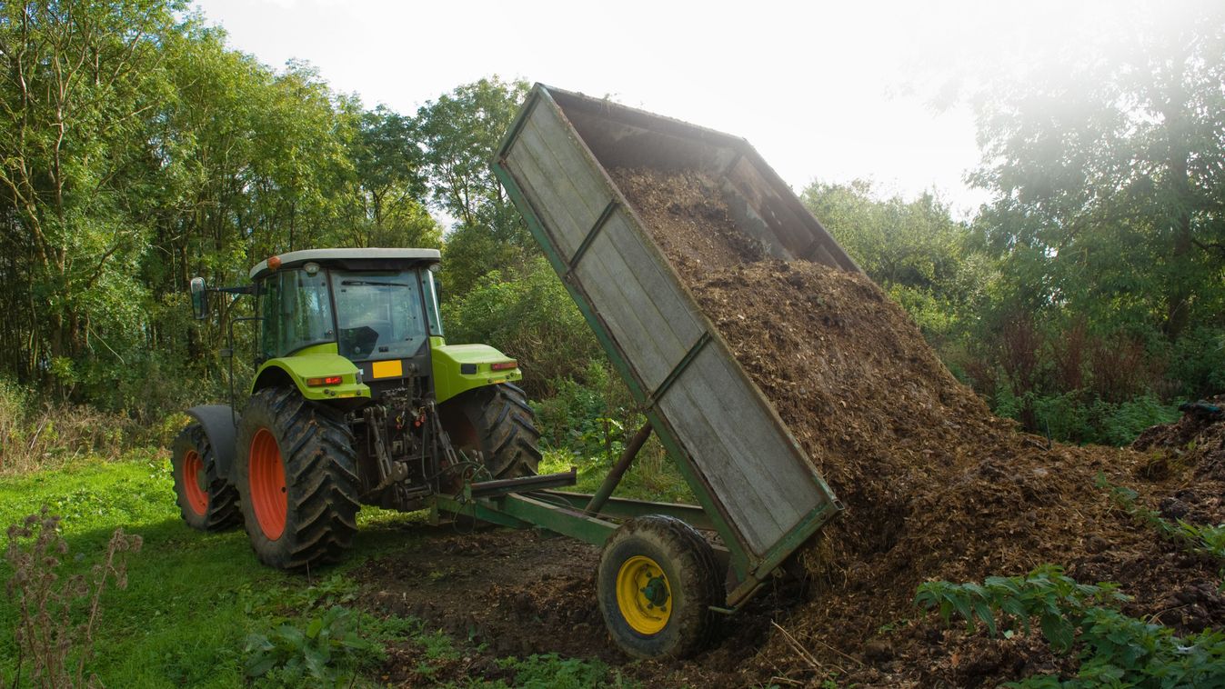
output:
[[[495,174],[643,409],[649,430],[639,434],[658,433],[701,503],[608,501],[627,452],[595,499],[567,493],[570,514],[601,521],[589,524],[595,543],[616,525],[594,515],[612,505],[718,532],[726,572],[715,607],[733,609],[842,504],[652,239],[615,168],[703,173],[718,180],[736,228],[771,256],[859,267],[742,138],[537,84],[497,151]],[[494,512],[505,504],[486,502]]]

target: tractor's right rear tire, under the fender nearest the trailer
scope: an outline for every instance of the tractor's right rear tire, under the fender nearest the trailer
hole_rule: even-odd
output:
[[[510,383],[485,385],[447,400],[442,421],[457,448],[481,453],[494,479],[534,476],[540,466],[540,431],[527,399]]]

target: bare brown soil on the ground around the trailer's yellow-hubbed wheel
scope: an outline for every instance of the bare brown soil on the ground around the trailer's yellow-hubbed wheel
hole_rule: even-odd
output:
[[[709,649],[687,661],[631,661],[612,645],[595,606],[599,548],[537,531],[412,527],[420,545],[352,572],[381,614],[412,616],[466,642],[456,677],[497,677],[491,657],[559,654],[621,667],[648,687],[737,687],[771,620],[804,597],[797,583],[761,595],[722,624]],[[392,649],[383,676],[415,685],[419,651]],[[436,678],[435,678],[436,679]]]

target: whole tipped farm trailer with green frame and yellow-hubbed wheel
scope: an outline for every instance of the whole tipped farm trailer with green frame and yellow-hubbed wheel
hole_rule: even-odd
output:
[[[494,171],[648,423],[594,496],[516,479],[436,508],[603,546],[597,587],[614,641],[684,656],[843,508],[609,174],[637,166],[699,170],[772,256],[859,272],[745,140],[535,84]],[[611,497],[652,432],[698,505]]]

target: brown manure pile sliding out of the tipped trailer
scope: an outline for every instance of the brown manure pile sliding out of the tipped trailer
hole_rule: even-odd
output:
[[[1169,453],[1020,433],[953,378],[870,279],[767,257],[736,229],[712,179],[612,176],[846,505],[800,554],[815,583],[806,602],[777,620],[839,682],[995,685],[1067,667],[1034,639],[965,634],[921,614],[911,600],[925,580],[1055,563],[1085,583],[1118,581],[1136,596],[1125,612],[1161,613],[1180,633],[1225,622],[1219,563],[1161,541],[1094,485],[1100,474],[1138,491],[1142,504],[1178,499],[1216,524],[1225,463],[1197,469]],[[746,682],[763,674],[823,677],[780,634],[746,663]]]

